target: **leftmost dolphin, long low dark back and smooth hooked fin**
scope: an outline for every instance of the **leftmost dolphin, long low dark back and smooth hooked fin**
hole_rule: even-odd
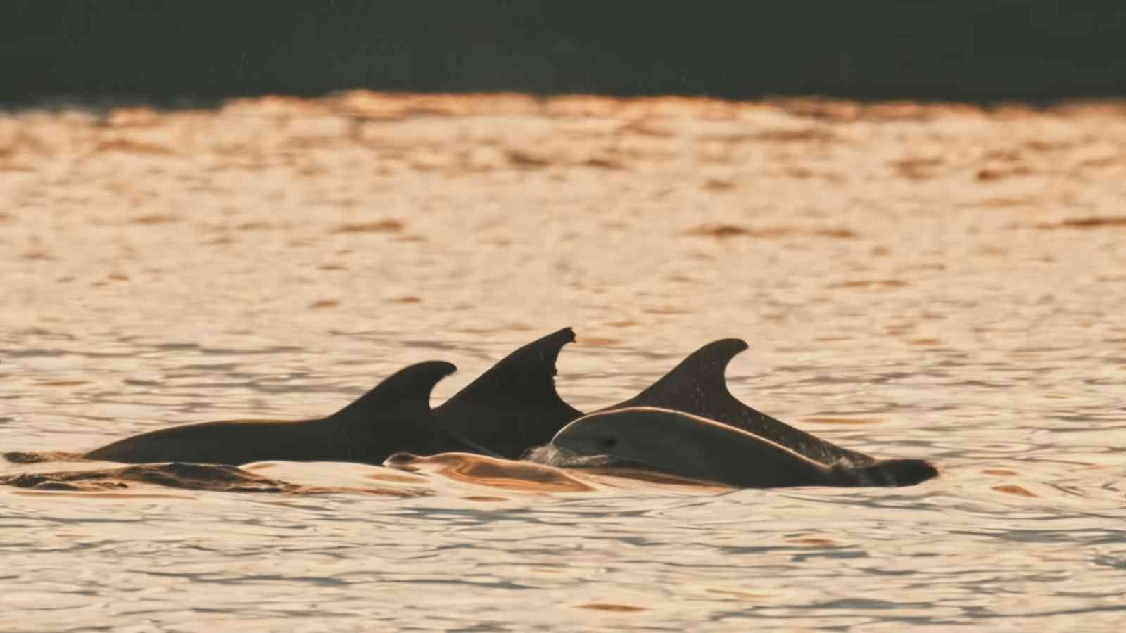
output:
[[[453,364],[440,360],[411,365],[327,418],[186,425],[128,437],[84,456],[132,464],[286,460],[378,465],[399,451],[467,451],[461,438],[435,424],[430,410],[430,391],[454,371]]]

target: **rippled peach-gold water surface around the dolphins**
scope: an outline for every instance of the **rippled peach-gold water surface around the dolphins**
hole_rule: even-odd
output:
[[[738,396],[941,476],[731,491],[438,460],[251,467],[306,487],[278,492],[0,487],[0,628],[1117,630],[1124,203],[1115,105],[6,114],[0,449],[316,417],[431,358],[461,368],[437,404],[573,326],[575,407],[742,337]]]

